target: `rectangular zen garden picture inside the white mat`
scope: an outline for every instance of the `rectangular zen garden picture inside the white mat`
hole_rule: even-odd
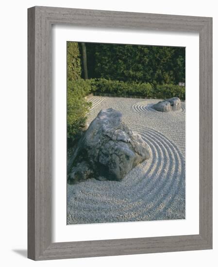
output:
[[[67,225],[185,219],[185,47],[67,41],[66,156]]]

